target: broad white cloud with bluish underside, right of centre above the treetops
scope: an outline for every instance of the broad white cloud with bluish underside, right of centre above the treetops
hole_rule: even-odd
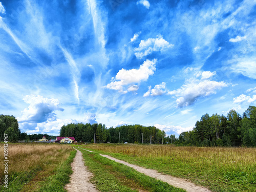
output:
[[[196,75],[197,78],[187,79],[180,89],[169,91],[168,94],[177,97],[176,102],[180,108],[191,105],[197,98],[215,94],[216,90],[228,86],[223,81],[217,82],[209,79],[215,74],[216,72],[199,72]]]

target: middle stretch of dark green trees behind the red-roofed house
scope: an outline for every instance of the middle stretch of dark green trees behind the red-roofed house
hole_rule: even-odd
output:
[[[122,125],[106,129],[105,124],[71,123],[63,125],[60,136],[75,137],[77,141],[96,143],[165,143],[166,134],[155,126]],[[173,136],[173,139],[175,136]],[[142,141],[143,139],[143,141]]]

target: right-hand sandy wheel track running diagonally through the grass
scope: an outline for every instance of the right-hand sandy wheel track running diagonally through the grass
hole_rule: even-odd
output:
[[[86,151],[89,151],[89,150],[86,150]],[[92,152],[92,151],[89,151],[89,152]],[[99,154],[99,155],[101,155],[101,154]],[[159,180],[161,180],[163,182],[166,182],[170,185],[173,185],[175,187],[185,189],[187,192],[210,192],[211,191],[211,190],[209,190],[205,187],[197,186],[194,183],[186,181],[185,179],[176,178],[176,177],[172,177],[172,176],[169,176],[169,175],[163,175],[161,173],[158,173],[157,170],[154,170],[154,169],[148,169],[148,168],[140,167],[140,166],[137,166],[137,165],[133,165],[133,164],[127,163],[125,161],[116,159],[114,157],[110,157],[108,155],[101,155],[101,156],[106,157],[108,159],[111,159],[113,161],[116,161],[118,163],[122,163],[124,165],[129,166],[129,167],[132,167],[135,170],[137,170],[137,172],[143,173],[147,176],[153,177],[155,179],[159,179]]]

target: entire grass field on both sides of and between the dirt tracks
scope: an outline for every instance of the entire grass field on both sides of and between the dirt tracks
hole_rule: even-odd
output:
[[[70,144],[9,144],[8,189],[0,191],[66,191],[76,151]],[[183,191],[106,159],[111,155],[160,173],[185,178],[212,191],[256,191],[256,148],[175,147],[171,145],[80,145],[94,151],[83,153],[100,191]],[[3,152],[3,143],[0,144]],[[4,153],[0,160],[4,162]],[[4,170],[0,163],[0,170]]]

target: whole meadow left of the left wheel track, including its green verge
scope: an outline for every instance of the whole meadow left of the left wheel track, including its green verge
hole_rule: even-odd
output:
[[[0,161],[4,162],[4,144],[0,144]],[[4,171],[0,172],[0,191],[51,191],[52,184],[60,189],[69,182],[70,163],[75,157],[70,145],[53,143],[8,144],[8,189],[4,188]],[[0,170],[4,164],[0,163]],[[61,174],[62,181],[54,176]],[[61,190],[59,190],[61,191]]]

